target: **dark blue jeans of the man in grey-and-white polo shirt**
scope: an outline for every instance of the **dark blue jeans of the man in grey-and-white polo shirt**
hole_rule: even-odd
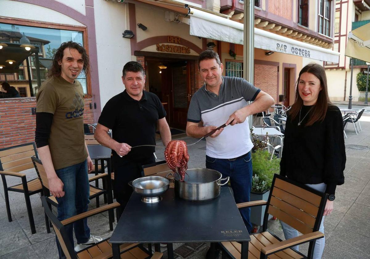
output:
[[[252,189],[252,160],[250,152],[245,157],[236,160],[213,158],[206,155],[206,168],[219,171],[223,178],[226,176],[230,177],[236,203],[248,202],[250,200],[250,190]],[[252,231],[250,208],[242,208],[239,211],[250,233]]]

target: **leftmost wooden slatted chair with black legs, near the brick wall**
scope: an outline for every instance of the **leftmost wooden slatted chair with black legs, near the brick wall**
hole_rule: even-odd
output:
[[[30,221],[31,233],[36,233],[35,222],[30,202],[30,195],[42,192],[41,182],[38,178],[27,181],[26,174],[21,173],[26,169],[33,168],[31,157],[36,156],[36,145],[34,142],[17,145],[14,147],[0,149],[0,175],[3,180],[6,211],[9,222],[12,221],[8,192],[21,192],[26,200],[28,219]],[[22,183],[8,187],[5,176],[20,177]]]

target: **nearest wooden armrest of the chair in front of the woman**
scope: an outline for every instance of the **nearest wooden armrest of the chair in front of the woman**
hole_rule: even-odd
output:
[[[290,248],[292,246],[300,245],[315,239],[323,238],[324,233],[320,231],[315,231],[312,233],[308,233],[302,236],[297,236],[295,238],[290,238],[288,240],[281,241],[279,243],[275,243],[272,245],[265,246],[261,249],[261,253],[264,255],[270,255],[272,253],[279,252],[281,250],[284,250],[286,248]]]

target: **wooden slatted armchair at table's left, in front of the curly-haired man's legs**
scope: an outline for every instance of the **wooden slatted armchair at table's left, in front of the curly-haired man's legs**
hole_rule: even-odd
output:
[[[87,211],[71,218],[65,219],[64,221],[59,221],[57,217],[53,214],[50,209],[50,199],[46,199],[45,196],[41,197],[41,202],[43,203],[45,213],[47,217],[50,219],[51,224],[53,225],[53,229],[55,235],[57,236],[60,247],[64,252],[64,255],[68,259],[108,259],[112,258],[112,246],[109,243],[109,238],[104,239],[95,245],[88,246],[87,248],[80,250],[79,252],[75,252],[73,244],[68,239],[67,232],[65,232],[66,225],[72,224],[75,221],[88,218],[98,213],[102,213],[104,211],[114,209],[120,206],[120,203],[114,202],[100,208],[92,209],[91,211]],[[134,244],[122,244],[120,246],[121,258],[122,259],[144,259],[148,258],[148,253],[144,252],[142,246],[138,243]],[[155,252],[152,256],[152,259],[160,259],[162,257],[162,253]]]

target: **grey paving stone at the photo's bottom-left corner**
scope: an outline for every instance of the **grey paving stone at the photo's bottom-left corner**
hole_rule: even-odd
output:
[[[30,242],[28,241],[22,229],[8,232],[6,233],[6,235],[1,235],[0,255],[6,255],[7,253],[13,252],[29,245]]]

